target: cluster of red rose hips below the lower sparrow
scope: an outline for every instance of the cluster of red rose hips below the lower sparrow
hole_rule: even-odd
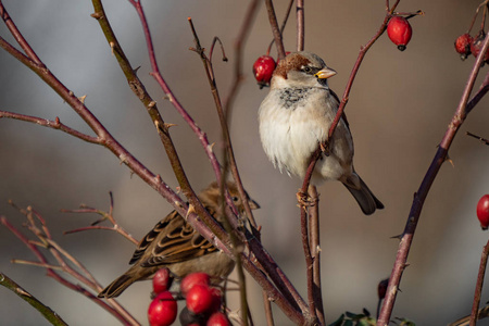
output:
[[[148,309],[151,326],[170,326],[177,316],[177,303],[168,291],[172,277],[167,268],[154,274],[153,292],[155,297]],[[223,293],[211,286],[211,277],[205,273],[192,273],[180,283],[178,297],[185,298],[186,306],[179,314],[183,326],[230,326],[222,312]]]

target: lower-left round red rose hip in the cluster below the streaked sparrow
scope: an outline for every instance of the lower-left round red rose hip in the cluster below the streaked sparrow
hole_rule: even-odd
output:
[[[176,319],[177,303],[168,291],[161,292],[151,301],[148,321],[151,326],[168,326]]]

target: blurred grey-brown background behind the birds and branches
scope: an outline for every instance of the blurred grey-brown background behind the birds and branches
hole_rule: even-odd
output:
[[[276,1],[279,20],[288,1]],[[319,187],[322,213],[322,273],[327,319],[362,308],[375,313],[377,283],[392,268],[413,193],[436,152],[459,103],[474,58],[462,62],[453,41],[466,32],[478,0],[401,1],[399,11],[422,9],[411,21],[413,39],[406,51],[397,50],[384,35],[367,53],[353,86],[347,114],[355,140],[355,166],[386,205],[365,217],[338,183]],[[86,103],[106,128],[143,164],[176,186],[170,164],[145,109],[127,87],[116,60],[100,30],[89,1],[4,1],[11,16],[48,67]],[[224,42],[228,63],[214,59],[223,98],[233,78],[233,43],[248,1],[145,1],[163,76],[188,112],[220,146],[217,116],[187,17],[191,16],[201,42],[214,36]],[[172,136],[196,189],[213,180],[204,152],[163,92],[149,76],[150,65],[137,14],[127,1],[104,1],[108,16],[139,76],[159,101]],[[318,53],[338,75],[330,87],[344,89],[361,45],[377,30],[384,1],[306,1],[305,48]],[[477,21],[475,29],[478,29]],[[296,47],[292,16],[284,40]],[[7,28],[0,35],[12,40]],[[300,180],[274,170],[259,139],[256,113],[267,90],[260,90],[251,67],[264,54],[272,33],[264,5],[246,43],[241,85],[231,120],[231,136],[241,176],[262,209],[263,242],[298,289],[305,296],[304,259],[299,235],[296,191]],[[217,53],[217,52],[216,52]],[[276,55],[275,49],[273,55]],[[481,75],[488,67],[481,70]],[[0,51],[0,110],[53,120],[89,133],[83,121],[28,68]],[[481,77],[479,76],[478,83]],[[488,234],[480,230],[475,208],[489,192],[489,148],[466,137],[472,131],[489,137],[488,99],[468,116],[457,135],[425,203],[409,256],[393,316],[417,325],[446,325],[469,314],[480,252]],[[22,227],[24,217],[8,204],[33,205],[48,222],[55,239],[78,258],[103,285],[127,268],[131,243],[105,231],[63,236],[97,216],[60,213],[86,203],[109,209],[141,238],[172,208],[150,187],[130,175],[108,150],[58,130],[12,120],[0,121],[0,214]],[[55,310],[72,325],[117,325],[86,298],[45,276],[41,268],[12,265],[13,258],[34,255],[5,228],[0,228],[0,271]],[[250,302],[256,325],[264,325],[260,289],[249,277]],[[130,287],[121,302],[146,324],[150,283]],[[489,299],[484,290],[481,302]],[[0,288],[0,324],[48,325],[37,311]],[[290,322],[277,310],[277,325]],[[481,322],[484,324],[484,322]],[[486,322],[486,325],[488,323]]]

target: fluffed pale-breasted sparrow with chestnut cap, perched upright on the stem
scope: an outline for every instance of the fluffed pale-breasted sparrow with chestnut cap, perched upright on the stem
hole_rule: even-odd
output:
[[[344,114],[331,139],[329,127],[339,105],[327,78],[336,72],[311,52],[294,52],[278,62],[271,90],[260,105],[260,137],[274,166],[304,177],[312,153],[327,142],[311,183],[340,180],[369,215],[383,203],[372,193],[353,167],[353,139]]]

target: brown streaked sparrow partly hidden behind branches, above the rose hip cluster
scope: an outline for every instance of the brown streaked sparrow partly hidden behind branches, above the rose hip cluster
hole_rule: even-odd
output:
[[[235,184],[227,187],[239,214],[243,214],[244,206]],[[209,213],[222,222],[221,191],[217,183],[212,183],[199,196],[200,201]],[[248,198],[252,210],[260,205]],[[183,278],[193,272],[204,272],[217,279],[226,277],[233,272],[235,262],[227,254],[220,252],[176,211],[160,221],[152,230],[139,242],[129,264],[134,264],[126,273],[111,283],[99,298],[114,298],[120,296],[128,286],[137,280],[151,278],[158,269],[167,267],[170,272]]]

